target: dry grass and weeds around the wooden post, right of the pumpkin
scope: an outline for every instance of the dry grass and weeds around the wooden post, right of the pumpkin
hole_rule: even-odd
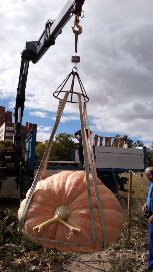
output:
[[[128,177],[128,175],[123,175]],[[111,244],[108,260],[111,270],[114,272],[140,271],[140,267],[146,264],[148,253],[148,219],[142,212],[142,206],[146,202],[148,184],[145,177],[132,175],[132,209],[131,209],[131,239],[128,245],[128,194],[120,192],[118,199],[123,215],[123,229],[120,237]],[[128,189],[128,184],[125,186]]]

